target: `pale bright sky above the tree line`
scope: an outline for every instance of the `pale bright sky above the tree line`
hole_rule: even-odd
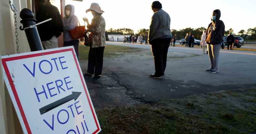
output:
[[[130,28],[136,33],[139,29],[149,28],[153,15],[151,4],[154,0],[83,0],[83,2],[66,0],[66,4],[75,6],[75,14],[80,23],[85,16],[92,15],[85,11],[91,3],[96,2],[105,11],[102,16],[106,21],[106,30],[113,28]],[[235,33],[240,30],[256,27],[256,0],[160,0],[171,17],[171,29],[187,27],[206,27],[211,22],[213,10],[220,9],[221,20],[226,30],[233,28]]]

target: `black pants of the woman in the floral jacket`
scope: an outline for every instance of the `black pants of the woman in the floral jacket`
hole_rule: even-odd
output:
[[[96,47],[89,50],[87,73],[101,75],[103,67],[103,53],[105,47]]]

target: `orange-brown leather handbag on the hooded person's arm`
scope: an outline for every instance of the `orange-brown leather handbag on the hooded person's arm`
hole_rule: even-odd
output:
[[[69,31],[69,34],[72,39],[80,39],[84,37],[84,32],[85,32],[85,26],[84,25],[81,26],[79,23],[79,26],[76,26],[73,30]]]

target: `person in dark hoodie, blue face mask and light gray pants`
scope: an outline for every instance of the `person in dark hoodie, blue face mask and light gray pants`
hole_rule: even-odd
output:
[[[219,51],[223,43],[225,25],[220,19],[220,10],[214,10],[212,13],[212,22],[208,25],[206,31],[206,43],[211,66],[206,72],[219,72]]]

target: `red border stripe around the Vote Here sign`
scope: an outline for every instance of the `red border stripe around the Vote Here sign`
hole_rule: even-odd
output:
[[[97,132],[100,131],[100,127],[99,127],[99,124],[96,120],[96,116],[93,112],[93,109],[92,109],[92,104],[91,104],[91,101],[89,99],[89,95],[88,95],[88,92],[86,90],[86,87],[85,87],[85,84],[84,84],[84,81],[83,81],[83,78],[82,78],[82,75],[81,75],[81,72],[80,72],[80,68],[79,68],[79,65],[78,65],[78,62],[76,60],[76,55],[73,51],[73,48],[68,48],[68,49],[62,49],[62,50],[55,50],[55,51],[50,51],[50,52],[42,52],[42,53],[35,53],[35,54],[28,54],[28,55],[22,55],[22,56],[16,56],[16,57],[10,57],[10,58],[3,58],[2,59],[2,64],[3,64],[3,67],[4,67],[4,70],[5,70],[5,73],[6,73],[6,76],[7,76],[7,79],[10,83],[10,86],[11,86],[11,89],[12,89],[12,92],[13,92],[13,95],[15,97],[15,100],[16,100],[16,103],[18,105],[18,108],[19,108],[19,111],[20,111],[20,114],[21,114],[21,117],[23,119],[23,122],[25,124],[25,127],[27,129],[27,132],[28,134],[32,134],[31,132],[31,129],[29,127],[29,124],[27,122],[27,118],[26,118],[26,115],[24,113],[24,110],[22,108],[22,105],[20,103],[20,100],[19,100],[19,97],[18,97],[18,94],[17,94],[17,91],[16,91],[16,88],[15,88],[15,85],[12,81],[12,78],[11,78],[11,74],[8,70],[8,67],[7,67],[7,64],[6,62],[9,62],[9,61],[14,61],[14,60],[20,60],[20,59],[26,59],[26,58],[32,58],[32,57],[37,57],[37,56],[42,56],[42,55],[49,55],[49,54],[55,54],[55,53],[63,53],[63,52],[68,52],[68,51],[71,51],[72,54],[73,54],[73,57],[74,57],[74,60],[76,62],[76,66],[77,66],[77,70],[79,72],[79,76],[80,76],[80,79],[82,81],[82,84],[83,84],[83,87],[84,87],[84,91],[85,91],[85,94],[86,94],[86,97],[87,97],[87,101],[89,102],[89,106],[90,106],[90,109],[91,109],[91,112],[92,112],[92,115],[93,115],[93,119],[96,123],[96,126],[97,126],[97,130],[95,130],[92,134],[96,134]]]

